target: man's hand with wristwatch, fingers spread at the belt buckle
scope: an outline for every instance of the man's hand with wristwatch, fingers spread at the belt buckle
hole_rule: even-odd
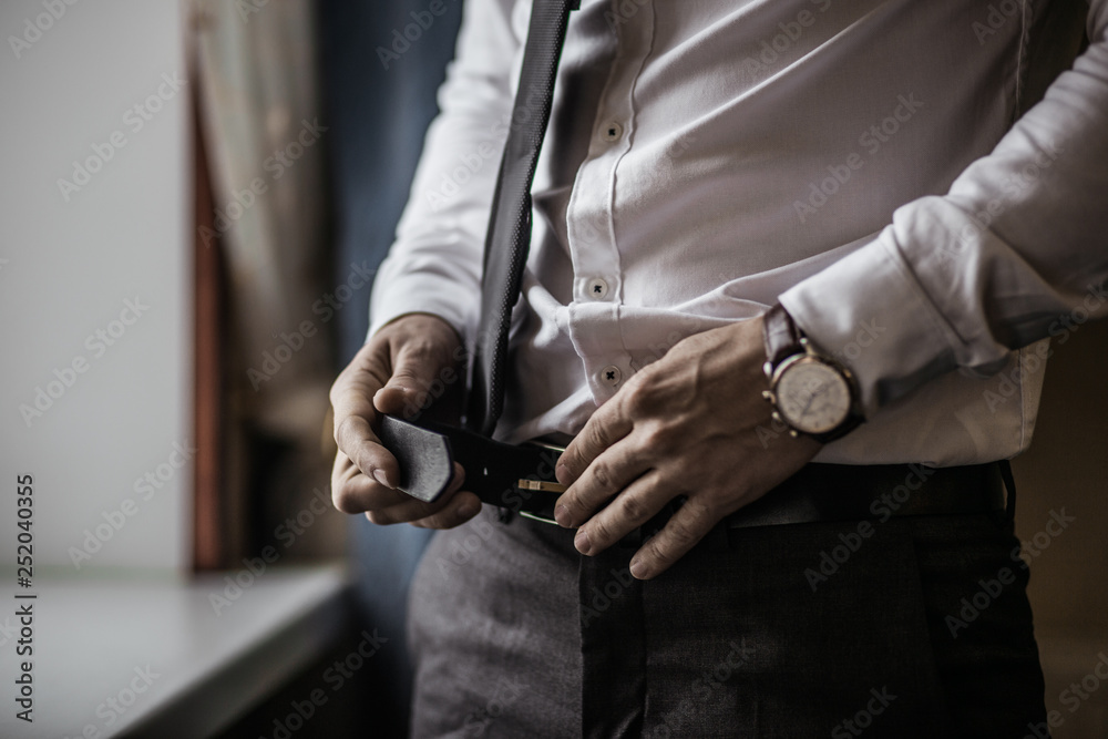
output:
[[[557,465],[570,489],[555,517],[596,554],[687,500],[635,554],[630,573],[665,572],[725,516],[765,495],[820,449],[771,420],[761,397],[762,319],[697,333],[637,372],[589,418]],[[761,433],[759,434],[759,427]]]

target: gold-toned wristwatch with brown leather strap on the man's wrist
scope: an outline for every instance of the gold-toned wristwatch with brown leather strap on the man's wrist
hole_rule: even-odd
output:
[[[773,420],[824,444],[854,430],[864,418],[850,370],[819,353],[780,304],[763,320],[769,390],[762,397]]]

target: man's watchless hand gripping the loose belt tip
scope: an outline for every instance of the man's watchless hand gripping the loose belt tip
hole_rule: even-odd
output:
[[[331,472],[331,500],[343,513],[366,513],[376,524],[408,522],[451,528],[481,510],[481,501],[461,491],[464,473],[434,503],[411,497],[396,486],[397,459],[373,433],[378,415],[410,417],[435,390],[456,398],[464,380],[464,352],[454,329],[427,314],[401,316],[362,347],[331,386],[335,441],[339,451]],[[450,398],[439,399],[449,403]]]

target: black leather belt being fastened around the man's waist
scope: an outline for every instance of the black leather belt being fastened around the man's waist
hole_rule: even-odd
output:
[[[450,484],[453,462],[459,462],[465,470],[465,490],[483,503],[555,524],[554,504],[565,486],[554,478],[554,469],[563,448],[534,442],[515,447],[464,429],[414,425],[391,417],[382,419],[380,438],[400,462],[400,490],[413,497],[438,499]],[[1008,471],[999,462],[952,468],[810,463],[725,519],[725,525],[991,513],[1005,507],[1006,479]],[[640,536],[664,525],[671,512],[664,511]]]

